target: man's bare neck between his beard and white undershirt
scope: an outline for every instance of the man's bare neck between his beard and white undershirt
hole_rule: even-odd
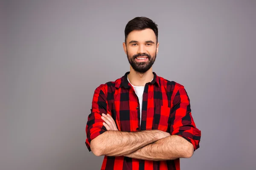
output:
[[[132,85],[135,86],[145,86],[146,83],[151,82],[154,74],[152,71],[152,67],[146,71],[145,73],[138,73],[134,71],[134,69],[130,68],[130,73],[128,74],[129,81]]]

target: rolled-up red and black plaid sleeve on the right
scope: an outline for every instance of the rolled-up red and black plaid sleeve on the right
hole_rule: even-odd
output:
[[[192,143],[194,151],[199,148],[201,130],[196,127],[192,118],[189,96],[182,85],[173,99],[169,127],[171,135],[181,136]]]

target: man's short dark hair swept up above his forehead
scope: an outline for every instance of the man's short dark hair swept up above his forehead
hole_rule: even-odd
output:
[[[144,30],[150,28],[154,31],[158,41],[158,28],[157,24],[147,17],[135,17],[130,20],[125,26],[125,43],[128,34],[134,30]]]

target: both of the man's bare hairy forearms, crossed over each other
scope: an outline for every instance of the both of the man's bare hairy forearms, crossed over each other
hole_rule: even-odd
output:
[[[194,151],[190,142],[161,130],[109,130],[93,139],[90,146],[96,156],[128,156],[154,161],[189,158]]]

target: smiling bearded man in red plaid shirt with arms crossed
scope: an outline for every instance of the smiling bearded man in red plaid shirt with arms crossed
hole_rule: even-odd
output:
[[[105,156],[102,170],[180,170],[180,159],[199,148],[201,131],[183,85],[152,71],[157,25],[136,17],[125,27],[130,71],[96,88],[86,125],[86,145]]]

